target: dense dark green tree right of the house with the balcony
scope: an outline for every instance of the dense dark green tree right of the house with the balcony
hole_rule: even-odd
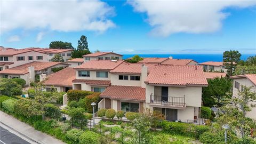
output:
[[[202,99],[204,106],[213,107],[220,105],[219,100],[226,96],[232,88],[232,81],[228,77],[217,77],[208,80],[208,86],[202,89]]]

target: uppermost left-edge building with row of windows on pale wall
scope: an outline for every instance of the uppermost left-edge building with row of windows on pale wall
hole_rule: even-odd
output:
[[[34,50],[4,49],[0,51],[0,70],[17,67],[33,61],[46,62],[47,54]]]

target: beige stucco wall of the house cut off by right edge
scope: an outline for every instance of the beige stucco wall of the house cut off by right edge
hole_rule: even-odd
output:
[[[254,85],[249,79],[247,78],[236,78],[234,79],[234,83],[233,83],[233,97],[238,97],[238,90],[235,88],[235,82],[238,82],[239,83],[239,90],[241,91],[242,89],[242,85],[244,86],[253,86],[252,87],[252,91],[256,92],[256,85]],[[253,102],[252,104],[256,104],[256,102]],[[250,117],[250,118],[254,118],[256,119],[256,107],[252,108],[251,111],[249,111],[247,114],[246,114],[247,117]]]

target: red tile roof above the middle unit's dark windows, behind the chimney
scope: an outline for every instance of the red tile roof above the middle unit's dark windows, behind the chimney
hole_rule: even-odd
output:
[[[110,70],[110,73],[126,73],[126,74],[141,74],[141,67],[143,63],[122,63],[115,69]],[[156,64],[145,64],[149,71],[156,66]]]

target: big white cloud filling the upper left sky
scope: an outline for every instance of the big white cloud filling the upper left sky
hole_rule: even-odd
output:
[[[102,32],[115,27],[114,8],[101,1],[1,1],[1,33],[17,28]]]

